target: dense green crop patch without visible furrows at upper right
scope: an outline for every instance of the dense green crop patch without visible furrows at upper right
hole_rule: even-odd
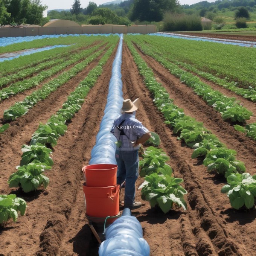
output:
[[[199,70],[238,82],[241,87],[256,86],[253,48],[149,35],[140,38],[149,44],[156,42],[173,59],[192,64]]]

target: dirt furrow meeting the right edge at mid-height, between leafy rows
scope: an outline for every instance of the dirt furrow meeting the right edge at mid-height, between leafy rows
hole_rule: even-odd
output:
[[[228,148],[235,149],[238,152],[238,159],[245,163],[247,171],[254,174],[256,142],[236,131],[230,123],[224,122],[219,112],[208,106],[191,88],[182,84],[180,79],[171,75],[159,62],[140,51],[139,53],[153,70],[156,80],[166,88],[170,98],[174,99],[174,104],[184,109],[185,114],[203,122],[204,127],[212,131]]]

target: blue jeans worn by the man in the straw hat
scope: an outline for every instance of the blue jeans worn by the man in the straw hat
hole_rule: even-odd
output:
[[[139,176],[139,150],[116,150],[117,184],[125,180],[125,206],[133,206],[135,199],[135,182]]]

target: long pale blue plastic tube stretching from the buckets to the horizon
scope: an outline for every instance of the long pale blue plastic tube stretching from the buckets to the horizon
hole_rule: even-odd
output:
[[[116,165],[115,151],[117,141],[110,130],[114,120],[120,116],[120,110],[123,104],[122,92],[122,46],[123,34],[120,35],[119,45],[116,57],[112,65],[112,75],[109,83],[107,105],[104,110],[104,116],[101,121],[100,130],[96,137],[96,145],[91,151],[90,165],[98,163],[111,163]]]

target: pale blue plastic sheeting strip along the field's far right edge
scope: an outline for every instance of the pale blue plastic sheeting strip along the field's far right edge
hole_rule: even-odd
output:
[[[256,42],[250,42],[250,41],[226,40],[226,39],[216,39],[216,38],[210,38],[210,37],[196,37],[196,36],[189,36],[189,35],[169,34],[169,33],[154,33],[154,34],[148,34],[148,35],[156,35],[159,37],[172,37],[172,38],[194,40],[194,41],[206,41],[206,42],[221,43],[221,44],[232,44],[232,45],[245,46],[245,47],[256,47]]]

